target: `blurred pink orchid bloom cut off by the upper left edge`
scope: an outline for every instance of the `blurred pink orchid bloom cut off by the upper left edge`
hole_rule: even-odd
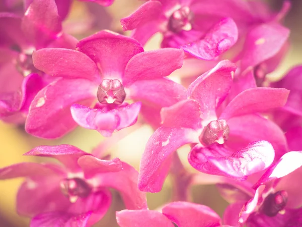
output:
[[[77,40],[61,32],[54,0],[34,0],[24,16],[0,13],[0,119],[24,124],[31,101],[52,81],[32,62],[32,51],[42,47],[72,48]],[[73,47],[74,48],[74,47]]]

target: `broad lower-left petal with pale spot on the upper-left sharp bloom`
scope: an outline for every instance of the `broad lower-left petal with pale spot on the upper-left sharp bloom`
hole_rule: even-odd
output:
[[[71,117],[70,105],[95,97],[96,85],[89,80],[58,79],[35,96],[29,108],[25,129],[43,138],[58,138],[77,126]]]

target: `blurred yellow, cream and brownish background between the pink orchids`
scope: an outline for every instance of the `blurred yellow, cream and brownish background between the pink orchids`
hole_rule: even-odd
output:
[[[266,2],[276,10],[280,9],[282,5],[282,0]],[[302,64],[302,1],[292,0],[291,2],[292,8],[285,18],[285,26],[291,30],[291,46],[279,68],[269,75],[274,79],[284,75],[292,66]],[[78,39],[101,29],[110,29],[122,33],[120,19],[128,16],[140,4],[142,4],[142,1],[115,0],[112,6],[104,8],[94,3],[74,1],[71,13],[64,22],[64,29]],[[88,29],[87,24],[94,29]],[[145,49],[158,48],[160,40],[160,36],[155,36],[147,43]],[[104,139],[96,131],[78,128],[62,139],[44,140],[27,135],[23,128],[24,126],[17,127],[0,122],[0,167],[23,161],[45,161],[46,159],[44,158],[22,156],[22,154],[39,145],[72,144],[86,152],[90,152]],[[138,169],[144,145],[153,131],[146,125],[141,127],[132,126],[129,130],[131,133],[111,147],[107,153],[111,153],[113,157],[119,157]],[[188,147],[184,147],[179,150],[179,154],[184,160],[183,163],[189,168],[186,161],[188,151]],[[0,181],[0,227],[21,227],[29,224],[29,218],[20,217],[16,213],[16,194],[22,181],[23,179]],[[168,178],[162,192],[147,195],[149,209],[156,209],[168,202],[171,190],[171,183]],[[121,210],[124,206],[119,195],[114,191],[113,194],[110,211],[95,226],[118,226],[115,223],[115,210]],[[194,202],[210,206],[219,215],[222,215],[224,208],[228,205],[219,196],[214,186],[194,186],[192,188],[192,197]]]

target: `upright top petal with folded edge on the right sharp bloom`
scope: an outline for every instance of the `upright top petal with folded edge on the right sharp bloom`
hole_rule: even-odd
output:
[[[228,60],[221,61],[188,87],[188,97],[200,104],[201,119],[216,117],[215,110],[228,95],[235,70],[235,64]]]

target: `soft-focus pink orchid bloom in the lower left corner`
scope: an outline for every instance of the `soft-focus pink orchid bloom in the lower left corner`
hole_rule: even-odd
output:
[[[2,180],[26,178],[18,191],[17,211],[32,217],[31,227],[91,226],[110,206],[109,188],[119,191],[128,209],[146,208],[137,171],[119,158],[98,159],[71,145],[39,146],[25,155],[52,157],[63,164],[23,162],[0,169]]]

